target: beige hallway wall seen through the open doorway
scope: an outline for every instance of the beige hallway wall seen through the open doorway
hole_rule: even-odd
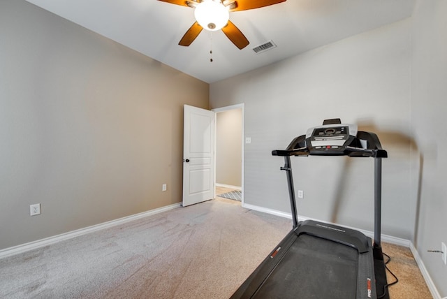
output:
[[[216,182],[242,187],[242,109],[216,115]]]

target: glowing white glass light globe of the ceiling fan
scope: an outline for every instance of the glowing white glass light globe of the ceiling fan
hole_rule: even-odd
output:
[[[205,0],[198,4],[194,10],[194,16],[201,27],[217,31],[228,23],[230,13],[221,1]]]

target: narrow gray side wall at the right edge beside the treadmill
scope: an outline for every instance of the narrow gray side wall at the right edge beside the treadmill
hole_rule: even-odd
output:
[[[419,192],[414,243],[441,297],[447,296],[447,266],[440,249],[447,244],[447,1],[418,1],[413,13],[411,131],[416,146],[411,154],[420,163],[412,186]],[[418,187],[420,189],[418,189]]]

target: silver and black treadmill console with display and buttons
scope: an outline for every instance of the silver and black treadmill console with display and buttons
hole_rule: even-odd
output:
[[[308,129],[306,144],[310,154],[343,154],[357,136],[356,124],[323,124]]]

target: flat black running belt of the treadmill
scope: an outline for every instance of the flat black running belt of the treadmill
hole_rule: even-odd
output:
[[[252,298],[356,298],[357,271],[356,249],[302,234]]]

